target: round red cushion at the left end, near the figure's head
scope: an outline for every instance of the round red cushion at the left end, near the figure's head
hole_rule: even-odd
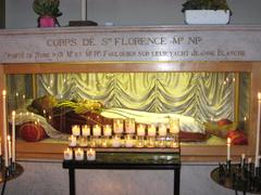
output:
[[[27,142],[38,142],[47,138],[45,129],[34,122],[23,123],[18,129],[18,134]]]

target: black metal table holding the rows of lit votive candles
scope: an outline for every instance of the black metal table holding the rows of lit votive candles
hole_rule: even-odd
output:
[[[86,156],[85,156],[86,157]],[[69,169],[70,195],[75,195],[75,169],[137,169],[173,170],[174,195],[179,195],[181,184],[179,153],[97,153],[96,160],[63,160],[63,168]]]

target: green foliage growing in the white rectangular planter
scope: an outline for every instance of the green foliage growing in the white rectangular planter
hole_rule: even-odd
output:
[[[229,10],[226,0],[187,0],[182,12],[186,10]]]

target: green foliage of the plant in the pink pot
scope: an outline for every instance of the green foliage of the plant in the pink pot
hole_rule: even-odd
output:
[[[60,0],[34,0],[33,9],[40,16],[58,17],[62,15],[59,5]]]

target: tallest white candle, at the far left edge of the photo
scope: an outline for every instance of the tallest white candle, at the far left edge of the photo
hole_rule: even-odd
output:
[[[3,108],[3,147],[4,147],[4,166],[8,167],[8,129],[7,129],[7,91],[3,90],[2,91],[2,95],[3,95],[3,99],[2,99],[2,108]]]

